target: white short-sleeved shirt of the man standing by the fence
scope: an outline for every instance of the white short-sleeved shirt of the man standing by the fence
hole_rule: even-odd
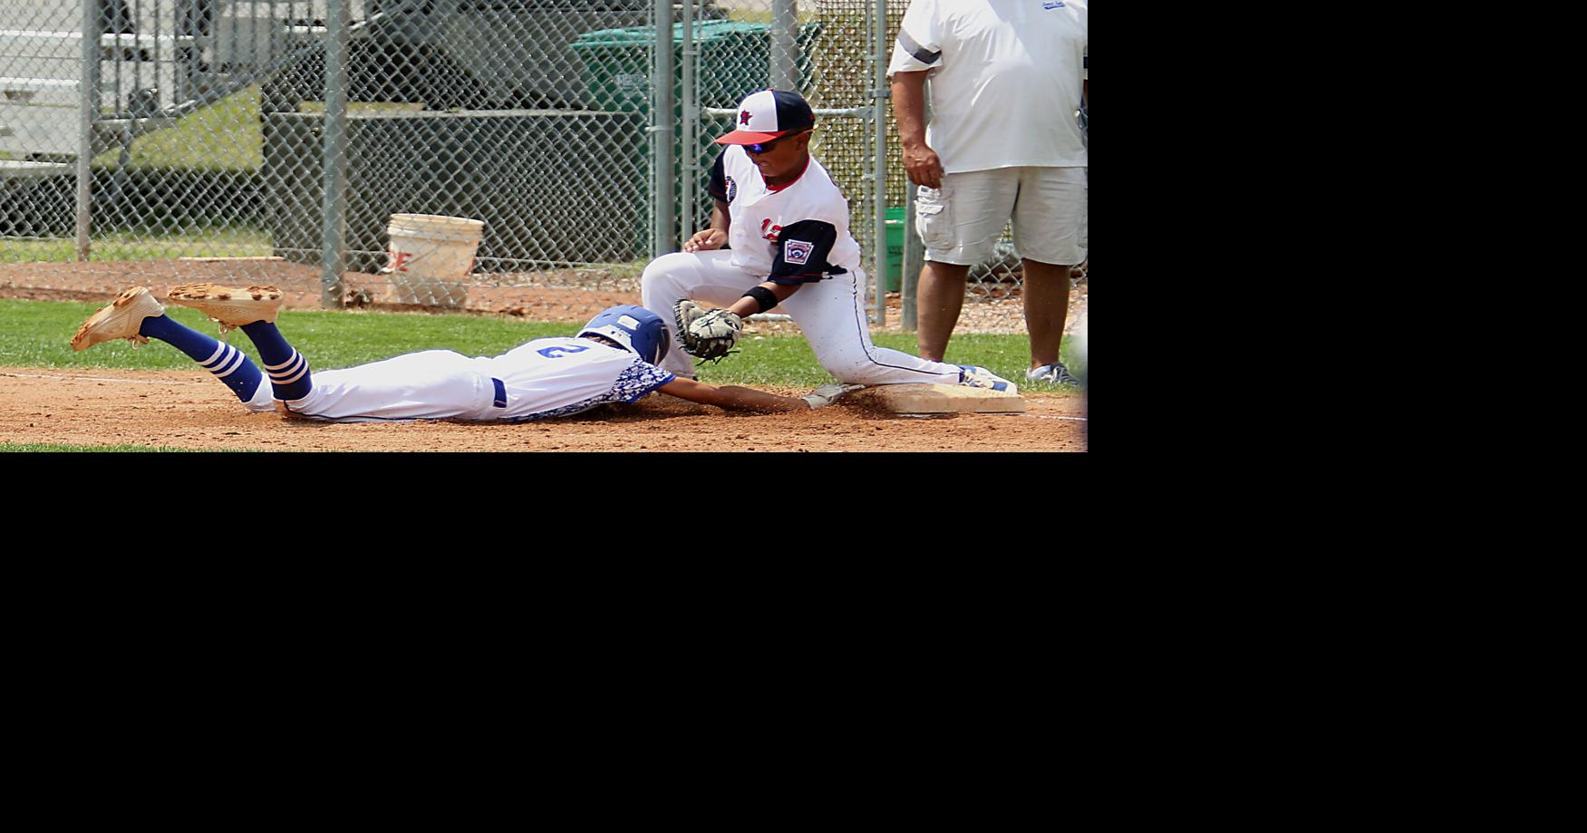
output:
[[[927,70],[925,143],[943,173],[1086,167],[1074,121],[1087,0],[914,0],[887,71]]]

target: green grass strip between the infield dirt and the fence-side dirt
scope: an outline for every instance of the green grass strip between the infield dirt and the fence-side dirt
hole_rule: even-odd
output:
[[[113,341],[76,352],[71,335],[103,303],[0,300],[0,365],[37,368],[132,368],[190,370],[194,363],[167,344],[133,347]],[[167,314],[205,333],[216,325],[197,311],[170,306]],[[494,316],[432,316],[422,313],[286,311],[281,332],[319,370],[332,370],[389,359],[422,349],[452,349],[465,355],[498,355],[532,338],[570,335],[573,322],[527,322]],[[913,333],[876,333],[878,346],[914,352]],[[229,341],[256,362],[248,336],[232,332]],[[749,336],[740,352],[717,363],[705,363],[700,379],[716,384],[816,387],[832,376],[816,362],[816,354],[800,336]],[[1024,335],[959,335],[947,346],[946,360],[982,365],[1020,382],[1030,359]],[[1065,362],[1076,368],[1068,355]]]

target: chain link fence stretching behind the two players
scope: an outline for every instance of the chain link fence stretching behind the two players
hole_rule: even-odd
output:
[[[713,111],[773,83],[820,114],[814,152],[897,286],[876,62],[906,5],[0,0],[0,295],[217,281],[584,321],[708,224]],[[482,221],[467,274],[394,271],[394,214]]]

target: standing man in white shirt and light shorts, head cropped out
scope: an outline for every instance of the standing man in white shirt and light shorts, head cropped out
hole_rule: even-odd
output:
[[[914,0],[893,44],[893,114],[925,243],[919,346],[941,360],[970,267],[1013,219],[1024,259],[1027,382],[1078,382],[1059,362],[1070,267],[1086,260],[1086,0]],[[925,124],[925,90],[932,124]]]

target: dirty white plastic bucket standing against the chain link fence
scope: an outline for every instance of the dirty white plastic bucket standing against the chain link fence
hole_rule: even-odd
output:
[[[392,214],[386,235],[386,273],[394,303],[462,306],[468,298],[465,278],[475,270],[475,252],[484,221],[438,214]]]

